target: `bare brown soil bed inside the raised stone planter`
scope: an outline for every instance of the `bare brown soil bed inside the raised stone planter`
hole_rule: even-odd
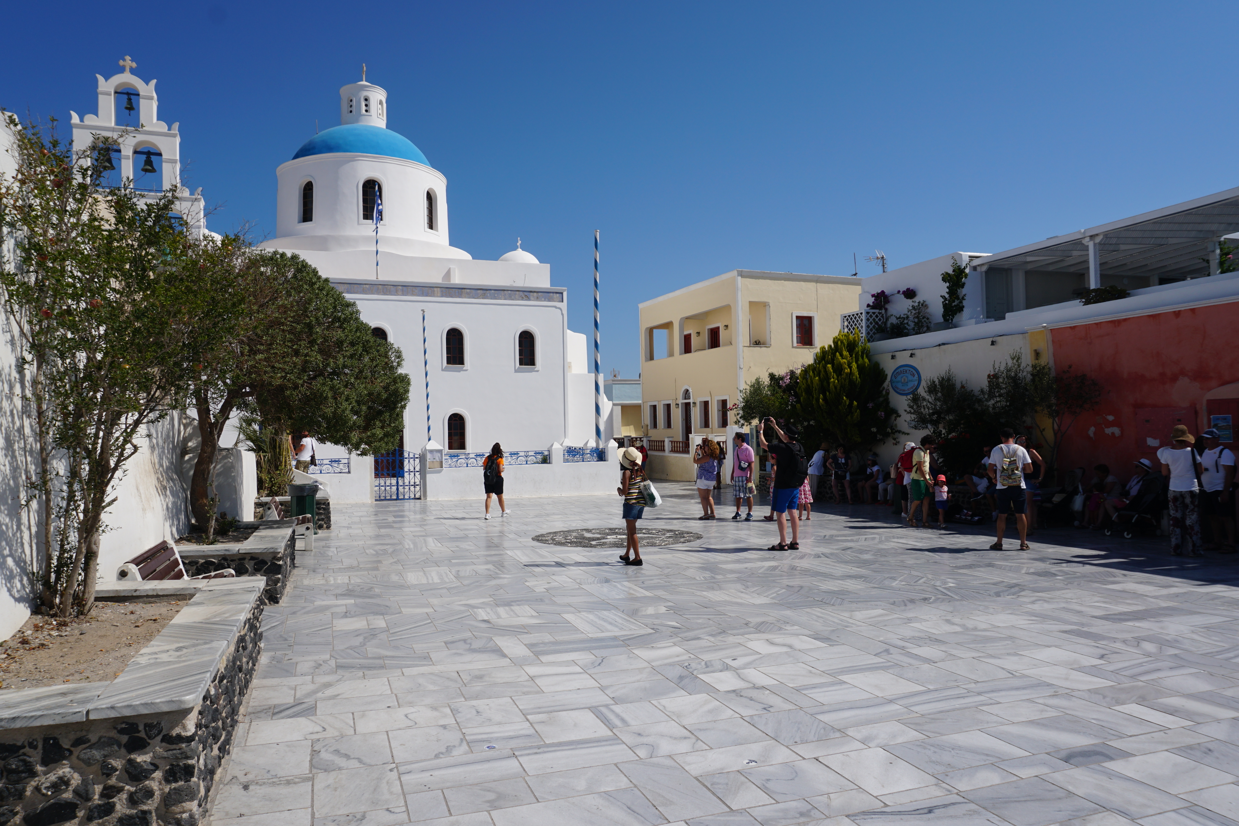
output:
[[[155,639],[188,597],[97,602],[85,617],[32,614],[0,643],[0,689],[110,682]]]

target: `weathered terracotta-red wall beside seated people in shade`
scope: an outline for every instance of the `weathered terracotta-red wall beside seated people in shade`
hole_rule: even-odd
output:
[[[1191,310],[1100,321],[1051,331],[1056,370],[1070,365],[1101,383],[1098,410],[1077,420],[1059,451],[1059,468],[1098,462],[1120,479],[1131,463],[1149,457],[1137,445],[1135,411],[1193,407],[1184,421],[1204,428],[1204,395],[1239,381],[1239,300]],[[1168,432],[1161,436],[1166,443]]]

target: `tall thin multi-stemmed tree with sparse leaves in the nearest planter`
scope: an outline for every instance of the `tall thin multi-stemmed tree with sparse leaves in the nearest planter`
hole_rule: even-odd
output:
[[[203,310],[185,266],[190,241],[175,191],[139,196],[100,186],[55,121],[10,118],[17,171],[0,189],[14,255],[2,261],[5,311],[32,375],[42,502],[40,602],[67,617],[94,602],[99,539],[115,484],[150,425],[183,409],[193,328]]]

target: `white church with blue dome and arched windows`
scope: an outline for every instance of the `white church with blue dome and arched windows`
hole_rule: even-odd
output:
[[[400,448],[431,451],[421,479],[429,498],[479,495],[476,467],[494,442],[517,452],[506,471],[513,495],[613,490],[613,468],[596,483],[601,468],[574,467],[586,463],[572,459],[595,458],[579,448],[597,442],[592,359],[586,337],[567,328],[567,290],[553,286],[550,266],[519,243],[497,261],[452,246],[447,178],[387,128],[388,115],[380,87],[363,79],[339,90],[341,125],[276,170],[276,238],[261,246],[312,264],[357,302],[377,337],[404,353],[413,390]],[[605,448],[612,445],[605,398],[602,407]],[[349,474],[369,464],[331,450],[320,459],[348,458],[339,467]],[[590,480],[577,478],[586,471]],[[539,480],[522,484],[514,473]],[[333,498],[337,488],[366,487],[322,478]]]

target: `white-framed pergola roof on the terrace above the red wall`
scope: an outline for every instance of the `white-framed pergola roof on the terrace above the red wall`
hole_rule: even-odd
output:
[[[970,269],[1087,270],[1092,289],[1101,286],[1103,271],[1172,279],[1217,275],[1218,241],[1235,233],[1239,187],[987,255],[973,261]]]

